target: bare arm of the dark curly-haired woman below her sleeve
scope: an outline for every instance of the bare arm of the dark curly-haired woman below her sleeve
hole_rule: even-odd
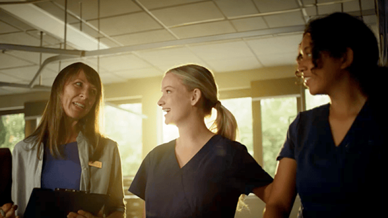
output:
[[[296,197],[296,161],[284,157],[278,165],[263,218],[288,218]]]

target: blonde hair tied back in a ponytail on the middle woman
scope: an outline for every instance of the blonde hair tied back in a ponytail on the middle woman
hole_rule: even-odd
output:
[[[213,74],[207,68],[195,64],[187,64],[170,69],[167,73],[172,73],[181,78],[183,85],[189,91],[199,89],[202,93],[200,104],[202,104],[201,108],[205,115],[210,115],[212,108],[217,110],[217,118],[211,129],[216,128],[217,135],[224,136],[230,140],[236,140],[236,119],[218,100],[217,84],[215,83]]]

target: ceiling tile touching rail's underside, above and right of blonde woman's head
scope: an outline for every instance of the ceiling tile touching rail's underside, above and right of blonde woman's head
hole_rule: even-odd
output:
[[[254,57],[254,54],[243,41],[212,43],[201,46],[190,46],[191,50],[204,61]],[[220,56],[222,54],[222,56]]]

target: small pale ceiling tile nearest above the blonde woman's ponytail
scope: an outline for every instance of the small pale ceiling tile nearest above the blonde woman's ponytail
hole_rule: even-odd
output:
[[[250,70],[262,67],[255,57],[236,57],[233,59],[207,61],[207,63],[214,73]]]

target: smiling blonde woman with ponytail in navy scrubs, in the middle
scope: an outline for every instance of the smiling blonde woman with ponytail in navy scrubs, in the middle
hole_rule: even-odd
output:
[[[234,141],[237,123],[217,97],[213,75],[190,64],[167,71],[158,105],[179,138],[157,146],[143,160],[129,191],[145,200],[147,218],[233,218],[239,197],[266,202],[272,177]],[[204,117],[217,110],[217,132]]]

